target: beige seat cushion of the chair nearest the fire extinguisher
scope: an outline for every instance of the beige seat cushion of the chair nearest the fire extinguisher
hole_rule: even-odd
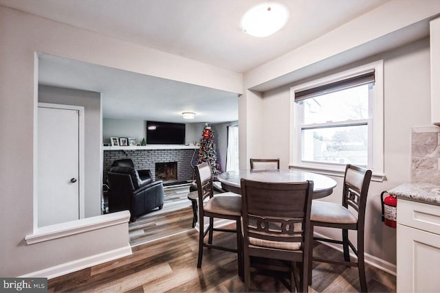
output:
[[[355,224],[358,222],[358,217],[353,215],[349,209],[343,207],[342,204],[313,200],[311,202],[310,220],[336,224]]]

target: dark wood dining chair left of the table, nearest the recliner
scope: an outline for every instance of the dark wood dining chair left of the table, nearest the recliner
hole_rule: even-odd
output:
[[[214,248],[237,254],[239,275],[241,276],[243,274],[241,196],[232,192],[225,192],[214,196],[211,167],[208,163],[201,163],[195,166],[195,178],[199,194],[199,258],[197,260],[197,268],[201,268],[203,248]],[[208,228],[204,226],[205,217],[209,217]],[[214,218],[234,220],[236,222],[236,229],[214,228]],[[214,231],[236,233],[236,249],[212,244]],[[208,243],[204,240],[207,234]]]

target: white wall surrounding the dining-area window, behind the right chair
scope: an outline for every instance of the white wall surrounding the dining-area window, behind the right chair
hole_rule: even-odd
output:
[[[331,71],[344,71],[350,67],[374,60],[384,60],[384,157],[386,180],[372,182],[366,207],[366,253],[396,263],[395,229],[381,222],[380,194],[405,182],[410,182],[411,128],[430,124],[430,51],[429,40],[423,39],[361,60],[353,65]],[[329,74],[329,73],[326,73]],[[318,75],[317,78],[321,77]],[[315,78],[308,78],[313,80]],[[301,84],[305,80],[296,82]],[[265,156],[280,157],[281,166],[289,165],[289,88],[294,84],[268,91],[263,95],[263,121]],[[325,200],[341,202],[342,183]],[[316,231],[340,239],[340,233],[331,229]]]

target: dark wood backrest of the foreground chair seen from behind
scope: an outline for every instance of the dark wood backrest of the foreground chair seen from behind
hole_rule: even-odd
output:
[[[252,237],[252,241],[278,242],[279,248],[296,244],[297,250],[302,250],[307,256],[313,189],[313,181],[263,183],[242,178],[245,248]],[[274,247],[271,247],[273,250]],[[270,254],[270,257],[276,258],[276,255]]]

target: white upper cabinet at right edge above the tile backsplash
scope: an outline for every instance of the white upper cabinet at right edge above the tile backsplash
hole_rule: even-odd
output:
[[[440,124],[440,18],[430,21],[431,122]]]

